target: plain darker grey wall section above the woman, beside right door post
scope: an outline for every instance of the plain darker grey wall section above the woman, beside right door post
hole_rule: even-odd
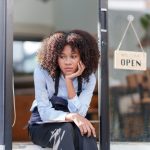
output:
[[[55,0],[56,29],[97,32],[98,0]]]

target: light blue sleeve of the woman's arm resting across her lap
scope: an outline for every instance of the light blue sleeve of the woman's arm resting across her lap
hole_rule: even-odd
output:
[[[54,85],[53,81],[51,85]],[[46,89],[46,80],[42,68],[37,67],[34,71],[35,100],[42,121],[65,121],[67,112],[57,111],[52,108]]]

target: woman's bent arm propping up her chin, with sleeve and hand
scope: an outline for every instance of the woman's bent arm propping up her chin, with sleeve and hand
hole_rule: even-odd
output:
[[[91,98],[93,95],[93,91],[96,84],[95,75],[92,74],[89,77],[89,82],[85,83],[85,87],[83,87],[80,96],[78,97],[75,88],[73,86],[73,79],[80,76],[85,69],[85,65],[80,61],[78,63],[78,70],[71,74],[65,76],[67,92],[68,92],[68,108],[70,112],[77,112],[82,116],[86,116],[87,110],[89,108],[89,104],[91,102]]]

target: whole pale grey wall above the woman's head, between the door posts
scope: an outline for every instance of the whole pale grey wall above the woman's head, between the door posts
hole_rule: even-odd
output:
[[[97,32],[98,0],[14,0],[14,33],[47,35],[55,30]]]

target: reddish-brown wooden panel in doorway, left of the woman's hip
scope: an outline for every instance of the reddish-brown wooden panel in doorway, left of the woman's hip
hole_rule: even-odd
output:
[[[27,125],[30,117],[30,107],[34,100],[34,95],[18,95],[16,100],[16,123],[12,128],[13,141],[29,141]]]

